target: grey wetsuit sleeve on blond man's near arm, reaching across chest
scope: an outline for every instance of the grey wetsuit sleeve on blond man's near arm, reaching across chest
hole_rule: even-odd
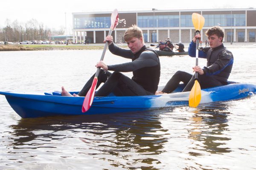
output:
[[[140,57],[135,59],[133,62],[108,65],[108,70],[119,72],[131,72],[144,67],[156,66],[159,63],[160,62],[157,57],[157,54],[155,54],[153,51],[143,51],[143,53],[140,54]]]

